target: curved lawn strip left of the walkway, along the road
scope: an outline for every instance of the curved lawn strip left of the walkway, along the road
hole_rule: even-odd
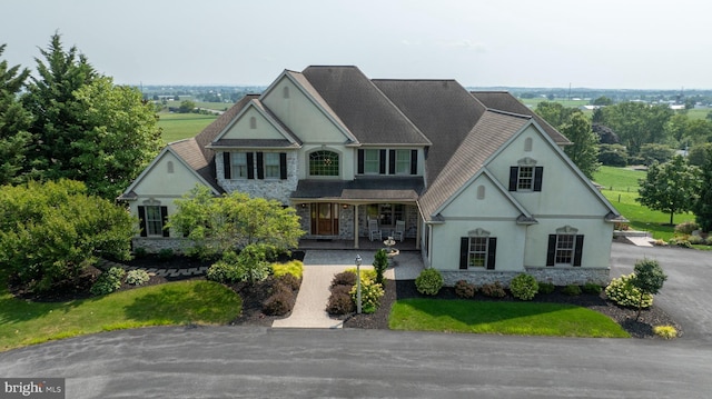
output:
[[[0,279],[2,287],[6,279]],[[178,281],[66,302],[31,302],[0,291],[0,351],[101,331],[167,325],[225,325],[241,311],[235,291]]]

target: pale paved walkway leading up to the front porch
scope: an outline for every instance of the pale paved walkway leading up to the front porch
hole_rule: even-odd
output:
[[[275,320],[273,328],[342,328],[343,321],[332,319],[326,312],[329,286],[334,275],[356,267],[356,255],[362,257],[362,268],[373,269],[375,250],[309,250],[304,258],[304,276],[291,315]],[[395,266],[384,276],[389,280],[414,280],[423,270],[421,252],[400,252]]]

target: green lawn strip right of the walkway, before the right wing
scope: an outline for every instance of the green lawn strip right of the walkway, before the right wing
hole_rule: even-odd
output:
[[[516,336],[629,338],[609,317],[563,303],[406,299],[394,303],[394,330]]]

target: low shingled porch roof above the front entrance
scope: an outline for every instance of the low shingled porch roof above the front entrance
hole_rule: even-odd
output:
[[[423,178],[357,178],[355,180],[299,180],[293,200],[416,201]]]

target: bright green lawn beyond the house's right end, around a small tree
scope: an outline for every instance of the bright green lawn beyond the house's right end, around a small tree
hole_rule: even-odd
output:
[[[634,230],[650,231],[655,239],[670,240],[674,236],[674,227],[669,226],[670,215],[652,210],[635,201],[639,197],[639,179],[645,179],[645,172],[625,168],[601,167],[593,180],[603,186],[603,194],[613,206],[630,220]],[[694,220],[692,213],[676,213],[674,223]]]

